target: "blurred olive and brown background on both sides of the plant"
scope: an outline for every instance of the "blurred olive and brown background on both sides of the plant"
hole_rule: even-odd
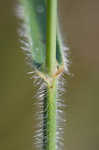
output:
[[[0,1],[0,150],[31,150],[33,83],[20,49],[14,0]],[[99,149],[99,1],[59,0],[72,64],[64,95],[64,150]]]

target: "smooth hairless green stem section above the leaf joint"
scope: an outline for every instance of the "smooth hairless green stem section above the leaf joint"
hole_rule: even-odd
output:
[[[52,75],[56,66],[57,0],[47,0],[46,67]]]

